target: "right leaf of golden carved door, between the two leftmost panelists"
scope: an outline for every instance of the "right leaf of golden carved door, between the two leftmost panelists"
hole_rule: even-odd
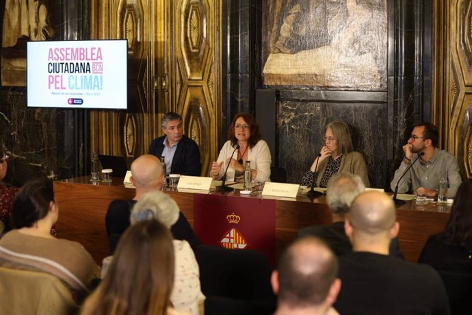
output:
[[[221,128],[220,1],[179,0],[172,8],[172,103],[198,143],[202,174],[218,155]]]

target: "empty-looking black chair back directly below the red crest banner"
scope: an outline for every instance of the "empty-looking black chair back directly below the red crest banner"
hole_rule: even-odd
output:
[[[276,297],[270,285],[272,268],[264,255],[250,249],[200,245],[195,251],[205,314],[274,314]]]

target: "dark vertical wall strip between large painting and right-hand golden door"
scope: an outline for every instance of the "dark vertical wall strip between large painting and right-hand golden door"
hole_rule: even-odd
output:
[[[389,0],[386,178],[403,158],[412,125],[431,120],[432,1]]]

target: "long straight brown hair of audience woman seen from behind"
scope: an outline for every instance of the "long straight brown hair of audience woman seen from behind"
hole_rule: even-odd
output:
[[[174,283],[174,247],[169,229],[144,220],[124,232],[114,259],[86,314],[168,314]]]

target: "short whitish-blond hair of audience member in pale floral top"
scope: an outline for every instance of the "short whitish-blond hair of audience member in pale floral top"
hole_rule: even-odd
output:
[[[170,229],[179,219],[179,205],[168,194],[153,190],[143,194],[131,210],[131,225],[142,220],[158,220]]]

